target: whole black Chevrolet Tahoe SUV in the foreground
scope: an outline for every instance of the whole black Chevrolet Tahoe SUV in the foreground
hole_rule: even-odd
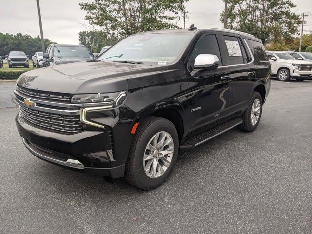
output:
[[[259,124],[271,67],[254,36],[177,29],[131,35],[92,61],[44,67],[17,80],[22,142],[79,172],[152,189],[179,150]],[[187,170],[187,168],[186,168]]]

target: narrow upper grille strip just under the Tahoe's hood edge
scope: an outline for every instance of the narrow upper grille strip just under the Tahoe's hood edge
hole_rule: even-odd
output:
[[[44,100],[59,100],[64,102],[70,102],[72,96],[70,94],[65,93],[56,93],[56,92],[48,92],[48,91],[40,91],[36,89],[27,89],[21,87],[20,85],[16,86],[16,89],[27,96],[36,97]]]

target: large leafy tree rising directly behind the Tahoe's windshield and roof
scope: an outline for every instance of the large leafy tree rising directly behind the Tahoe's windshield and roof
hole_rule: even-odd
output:
[[[89,0],[80,3],[85,20],[109,38],[123,38],[149,30],[177,28],[175,20],[187,0]]]

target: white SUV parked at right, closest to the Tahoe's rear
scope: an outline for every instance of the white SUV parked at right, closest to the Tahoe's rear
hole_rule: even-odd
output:
[[[290,54],[283,51],[267,51],[271,63],[271,72],[280,81],[288,81],[290,78],[305,80],[312,78],[312,62],[296,60]]]

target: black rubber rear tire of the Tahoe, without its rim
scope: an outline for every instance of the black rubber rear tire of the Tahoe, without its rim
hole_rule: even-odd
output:
[[[251,111],[252,111],[252,106],[254,104],[254,101],[256,99],[260,101],[260,114],[258,115],[259,118],[257,122],[253,125],[252,120],[251,120]],[[262,104],[263,104],[263,101],[262,101],[261,95],[258,92],[254,92],[252,98],[249,101],[248,108],[243,113],[243,116],[242,116],[243,122],[238,126],[240,130],[245,131],[245,132],[252,132],[257,128],[261,119],[261,115],[262,115]]]

